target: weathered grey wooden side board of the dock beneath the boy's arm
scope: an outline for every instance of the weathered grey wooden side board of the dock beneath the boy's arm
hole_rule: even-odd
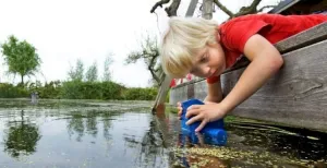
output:
[[[232,115],[327,132],[327,40],[283,55],[284,65]],[[221,75],[229,93],[245,68]]]

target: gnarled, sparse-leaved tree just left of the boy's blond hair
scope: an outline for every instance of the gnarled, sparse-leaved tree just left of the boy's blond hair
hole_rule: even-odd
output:
[[[141,48],[129,53],[125,59],[125,63],[136,63],[138,60],[143,60],[147,67],[147,70],[152,73],[153,81],[156,85],[160,83],[160,74],[162,73],[161,67],[157,67],[159,58],[159,48],[156,37],[146,36],[141,43]]]

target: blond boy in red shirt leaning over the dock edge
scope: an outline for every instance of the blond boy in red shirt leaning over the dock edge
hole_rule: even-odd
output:
[[[283,64],[274,44],[327,21],[327,15],[251,14],[221,25],[199,17],[171,17],[160,46],[164,71],[174,79],[206,77],[206,105],[191,106],[187,124],[218,120],[249,98]],[[220,74],[244,55],[251,63],[222,99]],[[178,104],[181,112],[180,104]],[[180,115],[179,112],[179,115]]]

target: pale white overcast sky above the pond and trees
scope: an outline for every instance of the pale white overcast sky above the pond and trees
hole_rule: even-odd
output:
[[[252,0],[220,0],[237,11]],[[112,81],[128,87],[150,86],[150,73],[138,61],[125,64],[131,51],[138,50],[144,36],[158,37],[167,28],[168,16],[158,8],[150,13],[157,0],[0,0],[0,44],[10,35],[32,44],[41,59],[40,72],[25,81],[50,82],[68,80],[68,71],[81,59],[85,71],[95,61],[99,77],[107,56],[112,55]],[[202,2],[199,0],[199,2]],[[178,11],[184,16],[190,0],[182,0]],[[276,0],[263,0],[264,4]],[[195,11],[194,16],[199,16]],[[217,10],[219,23],[228,16]],[[17,83],[20,77],[7,75],[8,67],[0,58],[0,82]]]

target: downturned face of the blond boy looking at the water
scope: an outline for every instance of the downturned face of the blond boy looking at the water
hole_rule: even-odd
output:
[[[220,75],[226,68],[225,53],[219,44],[207,45],[194,59],[190,73],[199,77]]]

